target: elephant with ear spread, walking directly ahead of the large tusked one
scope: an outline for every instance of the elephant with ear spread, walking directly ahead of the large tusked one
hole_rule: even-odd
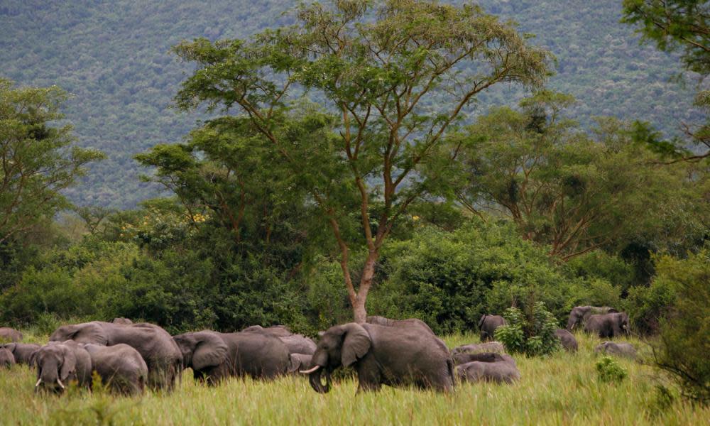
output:
[[[263,332],[218,333],[210,330],[174,336],[183,368],[216,384],[231,376],[273,379],[288,372],[290,354],[278,337]]]

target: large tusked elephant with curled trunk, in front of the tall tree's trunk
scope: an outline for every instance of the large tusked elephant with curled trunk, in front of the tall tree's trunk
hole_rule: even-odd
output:
[[[388,327],[348,324],[322,333],[309,374],[318,393],[330,391],[330,373],[353,366],[361,391],[378,391],[382,385],[432,388],[449,392],[454,387],[454,366],[449,349],[440,339],[422,333],[421,327]],[[326,383],[321,382],[325,371]]]

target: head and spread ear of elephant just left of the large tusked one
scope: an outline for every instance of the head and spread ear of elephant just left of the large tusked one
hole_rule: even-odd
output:
[[[215,332],[202,331],[173,336],[182,352],[182,368],[195,371],[219,366],[227,359],[228,348]]]

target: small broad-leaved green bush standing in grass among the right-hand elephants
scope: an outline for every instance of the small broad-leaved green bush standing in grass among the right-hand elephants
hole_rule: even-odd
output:
[[[496,340],[513,354],[541,356],[559,349],[555,337],[557,321],[544,303],[535,302],[525,314],[517,307],[509,307],[503,317],[508,324],[496,329]]]

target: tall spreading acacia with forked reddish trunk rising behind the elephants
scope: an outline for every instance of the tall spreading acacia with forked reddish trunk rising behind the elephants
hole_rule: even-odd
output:
[[[222,107],[285,158],[332,229],[354,319],[364,322],[381,247],[427,190],[422,165],[477,94],[504,82],[540,87],[550,54],[478,6],[333,0],[300,6],[296,21],[249,40],[176,46],[198,67],[176,100],[183,109]],[[294,104],[309,93],[332,122]],[[294,121],[333,134],[294,141]],[[356,274],[350,252],[358,248]]]

